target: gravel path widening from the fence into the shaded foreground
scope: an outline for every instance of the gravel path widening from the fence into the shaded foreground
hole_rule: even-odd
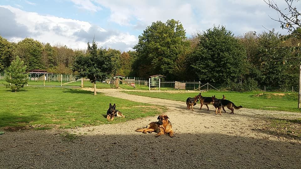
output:
[[[6,132],[0,135],[0,168],[301,168],[300,140],[254,125],[269,117],[301,118],[300,113],[243,108],[234,115],[214,115],[212,105],[209,111],[198,110],[199,104],[191,111],[184,102],[115,89],[98,92],[166,106],[175,137],[134,131],[157,116],[68,130]],[[76,139],[66,141],[61,135]]]

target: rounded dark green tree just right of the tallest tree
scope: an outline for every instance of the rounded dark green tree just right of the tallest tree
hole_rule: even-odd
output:
[[[246,74],[246,50],[231,31],[214,26],[199,34],[199,43],[187,64],[202,81],[238,82]]]

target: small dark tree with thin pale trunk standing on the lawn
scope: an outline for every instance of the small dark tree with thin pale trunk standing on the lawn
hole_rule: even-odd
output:
[[[106,54],[105,49],[97,49],[95,40],[92,41],[92,46],[88,42],[86,55],[77,52],[73,64],[73,71],[77,71],[79,77],[87,77],[91,83],[94,83],[94,95],[96,95],[96,81],[102,81],[112,77],[113,61],[112,55]]]

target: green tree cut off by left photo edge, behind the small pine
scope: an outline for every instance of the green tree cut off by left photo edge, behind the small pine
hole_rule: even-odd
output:
[[[0,72],[5,70],[13,59],[13,44],[0,36]]]

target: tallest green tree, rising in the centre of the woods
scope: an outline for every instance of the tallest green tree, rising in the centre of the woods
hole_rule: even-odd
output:
[[[153,22],[139,36],[134,46],[138,59],[135,69],[139,76],[163,74],[167,79],[177,79],[177,59],[189,48],[185,30],[180,21],[174,19]]]

